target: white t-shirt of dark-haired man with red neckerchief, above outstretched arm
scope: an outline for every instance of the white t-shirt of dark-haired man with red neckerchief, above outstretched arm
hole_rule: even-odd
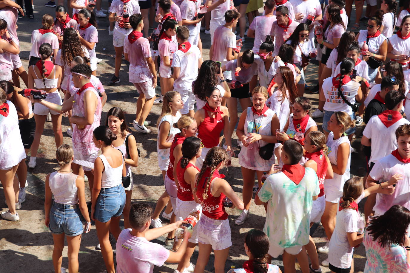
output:
[[[381,122],[378,116],[373,116],[367,122],[364,127],[363,135],[366,138],[371,139],[371,155],[369,159],[370,163],[376,163],[377,160],[387,156],[397,149],[396,129],[403,124],[409,124],[405,118],[398,120],[388,128]]]

